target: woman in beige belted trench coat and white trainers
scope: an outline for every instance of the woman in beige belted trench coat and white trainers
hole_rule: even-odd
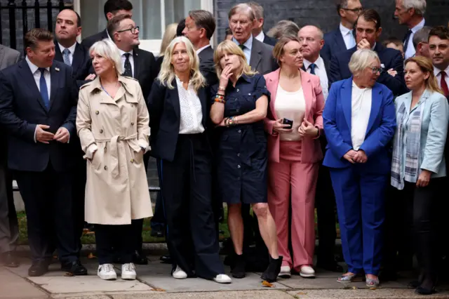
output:
[[[76,130],[87,159],[86,221],[95,225],[98,276],[135,279],[132,263],[135,219],[152,216],[143,154],[148,148],[149,117],[138,81],[122,77],[118,48],[109,40],[90,49],[97,78],[81,86]],[[114,250],[113,250],[114,248]]]

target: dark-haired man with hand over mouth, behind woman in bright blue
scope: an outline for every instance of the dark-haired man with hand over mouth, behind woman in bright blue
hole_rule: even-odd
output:
[[[329,83],[333,84],[335,81],[351,77],[352,74],[348,66],[351,55],[358,49],[367,48],[375,51],[380,58],[383,71],[377,82],[387,86],[394,95],[406,93],[408,89],[403,76],[404,61],[401,52],[392,48],[384,48],[376,42],[382,33],[379,13],[373,9],[361,12],[355,28],[357,45],[334,55],[330,60]]]

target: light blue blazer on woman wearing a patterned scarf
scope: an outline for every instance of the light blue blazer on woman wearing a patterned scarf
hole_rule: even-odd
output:
[[[406,125],[403,128],[408,127],[411,120],[410,112],[413,112],[419,105],[424,105],[420,138],[420,169],[431,171],[431,178],[444,177],[446,175],[444,147],[449,124],[448,100],[441,93],[426,90],[417,105],[410,111],[412,103],[412,91],[410,91],[396,98],[396,116],[402,103],[406,105]],[[400,120],[398,119],[398,121]],[[406,134],[405,132],[403,137],[406,137]],[[401,140],[401,142],[404,141]],[[401,175],[403,175],[403,170],[401,170]]]

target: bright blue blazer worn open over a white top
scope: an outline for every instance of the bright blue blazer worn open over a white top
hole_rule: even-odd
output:
[[[323,112],[324,132],[328,149],[323,165],[330,168],[347,168],[353,164],[343,158],[352,150],[351,141],[351,98],[352,77],[338,81],[330,88]],[[373,86],[373,102],[370,119],[366,128],[366,138],[360,147],[368,156],[366,169],[373,173],[391,171],[389,142],[396,128],[396,112],[393,94],[389,89],[376,83]]]

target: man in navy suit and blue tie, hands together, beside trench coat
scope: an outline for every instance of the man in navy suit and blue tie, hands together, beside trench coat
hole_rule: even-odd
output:
[[[68,145],[76,136],[72,68],[53,61],[53,34],[46,29],[27,32],[25,49],[27,58],[0,74],[0,124],[8,133],[8,167],[15,171],[27,213],[28,274],[48,272],[56,240],[61,269],[86,275],[72,213],[77,161]]]

